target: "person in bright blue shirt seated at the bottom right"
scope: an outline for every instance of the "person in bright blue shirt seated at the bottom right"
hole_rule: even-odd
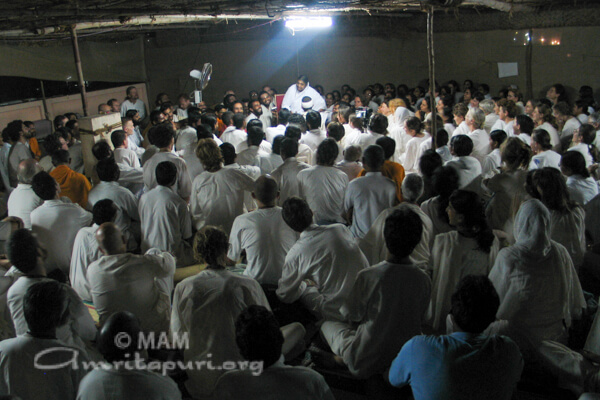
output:
[[[452,295],[454,333],[409,340],[390,367],[390,383],[410,385],[415,400],[510,399],[523,357],[509,338],[482,334],[499,305],[486,276],[463,278]]]

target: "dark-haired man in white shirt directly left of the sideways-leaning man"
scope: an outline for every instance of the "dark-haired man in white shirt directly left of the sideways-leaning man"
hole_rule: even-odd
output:
[[[283,221],[281,207],[275,205],[278,197],[275,179],[268,175],[258,178],[252,192],[258,209],[237,217],[229,236],[227,257],[235,262],[245,250],[248,262],[244,275],[263,285],[277,285],[285,256],[298,239]]]

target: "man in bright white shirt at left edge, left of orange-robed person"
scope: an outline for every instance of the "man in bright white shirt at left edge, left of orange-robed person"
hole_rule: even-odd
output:
[[[19,184],[8,198],[8,215],[21,218],[27,229],[31,229],[31,212],[44,202],[31,188],[31,180],[41,170],[33,158],[21,161],[17,171]]]

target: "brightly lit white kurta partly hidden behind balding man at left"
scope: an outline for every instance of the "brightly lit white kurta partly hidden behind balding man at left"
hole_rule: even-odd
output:
[[[75,237],[73,256],[69,270],[69,280],[73,290],[84,301],[92,301],[90,283],[87,270],[91,263],[102,257],[102,252],[96,240],[96,231],[99,226],[94,224],[89,228],[81,228]]]

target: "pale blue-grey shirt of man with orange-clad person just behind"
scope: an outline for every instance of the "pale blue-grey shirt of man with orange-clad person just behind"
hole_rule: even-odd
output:
[[[381,172],[367,172],[348,184],[344,209],[352,212],[350,232],[364,237],[379,214],[396,203],[396,184]]]

